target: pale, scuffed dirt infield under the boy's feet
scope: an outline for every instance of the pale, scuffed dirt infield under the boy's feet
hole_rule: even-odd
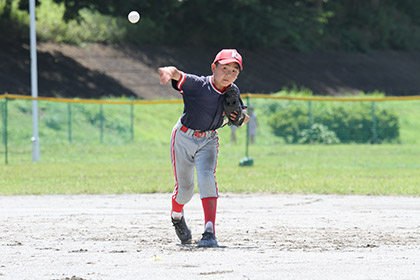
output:
[[[420,197],[222,194],[221,248],[170,194],[0,196],[1,279],[419,279]],[[185,207],[201,236],[198,196]]]

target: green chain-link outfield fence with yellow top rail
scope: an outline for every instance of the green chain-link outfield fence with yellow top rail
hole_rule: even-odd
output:
[[[243,99],[258,120],[251,144],[420,142],[417,96],[329,98],[245,94]],[[0,154],[6,162],[13,154],[30,154],[32,100],[28,96],[0,96]],[[39,139],[43,146],[169,143],[172,126],[183,110],[182,100],[37,100]],[[248,135],[245,128],[236,133]],[[229,128],[220,129],[219,135],[224,143],[232,141]],[[246,140],[238,137],[238,144],[248,145]]]

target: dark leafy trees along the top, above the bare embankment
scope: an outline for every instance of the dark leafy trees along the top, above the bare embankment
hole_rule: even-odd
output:
[[[38,0],[37,6],[42,1]],[[109,28],[113,35],[103,35],[101,31],[100,37],[92,37],[90,41],[111,42],[123,38],[134,43],[218,47],[223,43],[223,46],[237,48],[281,47],[299,51],[420,49],[418,0],[53,1],[64,5],[64,22],[60,25],[73,27],[74,21],[83,25],[86,18],[112,22]],[[27,11],[28,3],[27,0],[0,0],[3,38],[27,36],[26,19],[14,15],[18,14],[17,7]],[[127,25],[125,18],[131,10],[141,13],[142,32],[147,35]],[[128,36],[117,35],[118,28]],[[65,35],[58,37],[66,38]],[[75,42],[82,40],[84,38],[77,38]]]

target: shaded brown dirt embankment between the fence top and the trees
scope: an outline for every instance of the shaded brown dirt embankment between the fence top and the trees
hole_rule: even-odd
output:
[[[99,98],[134,96],[180,98],[158,82],[157,67],[208,75],[218,49],[163,46],[38,45],[39,96]],[[302,54],[284,50],[240,50],[245,71],[237,84],[242,92],[272,93],[284,87],[311,89],[317,95],[384,91],[417,95],[420,52]],[[30,95],[30,52],[27,45],[0,48],[0,93]]]

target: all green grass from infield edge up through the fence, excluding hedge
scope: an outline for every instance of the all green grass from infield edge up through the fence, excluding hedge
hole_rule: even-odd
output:
[[[216,177],[221,192],[420,195],[419,102],[378,104],[398,113],[401,144],[334,146],[285,145],[272,134],[264,112],[269,103],[287,101],[250,102],[260,124],[257,145],[249,149],[255,163],[238,166],[245,156],[244,128],[237,131],[238,144],[233,146],[228,145],[229,127],[220,129]],[[72,144],[67,104],[39,102],[39,107],[41,161],[33,163],[31,102],[8,102],[9,163],[4,163],[1,125],[0,194],[172,191],[169,140],[182,104],[136,105],[132,141],[129,107],[104,105],[103,143],[99,141],[99,105],[73,104]]]

